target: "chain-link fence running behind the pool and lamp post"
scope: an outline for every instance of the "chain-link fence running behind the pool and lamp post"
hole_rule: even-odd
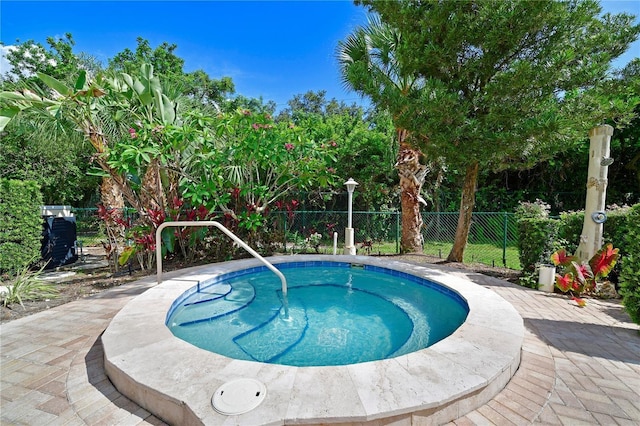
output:
[[[73,209],[78,237],[85,245],[99,244],[100,220],[96,209]],[[127,210],[126,215],[135,216]],[[453,246],[458,213],[422,213],[425,255],[446,259]],[[283,252],[332,254],[336,232],[337,252],[344,248],[347,226],[345,211],[295,211],[269,213],[267,226],[281,235]],[[353,228],[358,254],[400,253],[399,212],[353,212]],[[483,263],[520,269],[517,223],[512,213],[473,213],[464,255],[465,263]]]

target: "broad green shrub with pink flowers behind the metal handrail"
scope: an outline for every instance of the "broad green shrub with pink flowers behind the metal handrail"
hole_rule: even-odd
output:
[[[189,115],[164,132],[168,163],[184,178],[182,195],[192,205],[230,212],[241,227],[260,225],[263,214],[288,194],[334,185],[333,144],[309,137],[307,128],[274,122],[248,110],[217,117]],[[243,213],[240,216],[240,213]]]

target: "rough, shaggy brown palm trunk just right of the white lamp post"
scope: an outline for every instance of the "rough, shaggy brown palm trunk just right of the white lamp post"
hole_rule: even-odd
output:
[[[400,177],[400,204],[402,208],[402,236],[400,251],[402,253],[422,253],[423,238],[422,214],[420,203],[426,204],[422,196],[422,184],[427,174],[427,167],[420,164],[420,151],[406,145],[406,132],[398,131],[400,149],[396,168]]]

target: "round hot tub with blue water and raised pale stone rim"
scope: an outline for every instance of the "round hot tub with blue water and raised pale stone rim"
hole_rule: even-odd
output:
[[[261,271],[256,260],[171,272],[165,274],[163,283],[129,302],[102,336],[105,369],[116,388],[176,425],[366,424],[380,419],[446,423],[489,401],[520,363],[524,338],[520,315],[496,293],[455,270],[366,256],[282,256],[268,260],[285,274],[320,268],[311,275],[303,272],[304,280],[288,280],[287,312],[282,293],[275,287],[269,289],[262,280],[277,279]],[[340,278],[327,281],[325,272],[337,269],[342,269]],[[384,280],[392,279],[375,288],[369,284],[370,278],[354,277],[367,269],[382,274]],[[260,283],[252,283],[252,289],[246,282],[232,289],[236,278],[241,282],[247,277],[260,278]],[[325,279],[320,282],[317,278]],[[409,296],[400,297],[403,288],[408,289]],[[210,294],[196,296],[198,289]],[[419,300],[432,297],[430,291],[420,293],[425,289],[445,295],[462,308],[466,319],[448,331],[450,335],[439,335],[440,331],[433,331],[429,322],[421,319],[420,311],[427,312],[429,320],[444,315],[437,308],[430,311],[428,303]],[[247,320],[246,316],[255,313],[243,312],[239,306],[251,305],[255,299],[251,292],[269,295],[262,305],[261,318]],[[185,304],[209,303],[196,303],[205,299],[222,303],[216,305],[211,300],[211,307],[203,310],[208,314],[200,312],[191,319],[176,320],[175,315]],[[316,305],[316,299],[326,300]],[[233,303],[235,307],[231,307]],[[316,316],[333,308],[337,309],[323,327],[323,320]],[[346,319],[351,310],[357,318]],[[379,318],[389,313],[391,320]],[[227,344],[231,342],[234,353],[202,349],[196,346],[200,343],[188,343],[169,328],[189,328],[190,321],[205,324],[212,319],[227,322],[210,330],[205,340],[222,340],[227,334],[231,336]],[[317,331],[309,331],[309,322],[318,323]],[[355,328],[345,328],[346,322],[353,322]],[[308,360],[298,365],[288,361],[296,352],[320,351],[335,344],[356,345],[350,335],[368,335],[373,323],[381,324],[378,331],[383,337],[376,337],[379,341],[372,344],[360,340],[360,349],[351,352],[367,353],[363,358],[323,361],[322,365],[313,361],[312,366]],[[281,340],[277,345],[265,343],[275,336]],[[412,341],[426,344],[410,348]],[[379,346],[383,347],[383,356],[371,358],[370,349]],[[233,404],[242,402],[244,388],[239,389],[237,384],[245,382],[264,385],[264,392],[251,390],[260,394],[260,401],[252,403],[251,409],[232,412],[212,407],[212,400],[231,395],[227,390],[223,396],[225,389],[238,395]]]

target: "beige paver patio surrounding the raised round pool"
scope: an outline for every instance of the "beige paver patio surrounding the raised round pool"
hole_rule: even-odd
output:
[[[454,273],[512,303],[527,332],[505,389],[452,424],[640,424],[640,336],[617,301],[577,308],[560,295]],[[151,285],[145,279],[0,325],[0,424],[164,424],[113,387],[100,342],[111,318]]]

